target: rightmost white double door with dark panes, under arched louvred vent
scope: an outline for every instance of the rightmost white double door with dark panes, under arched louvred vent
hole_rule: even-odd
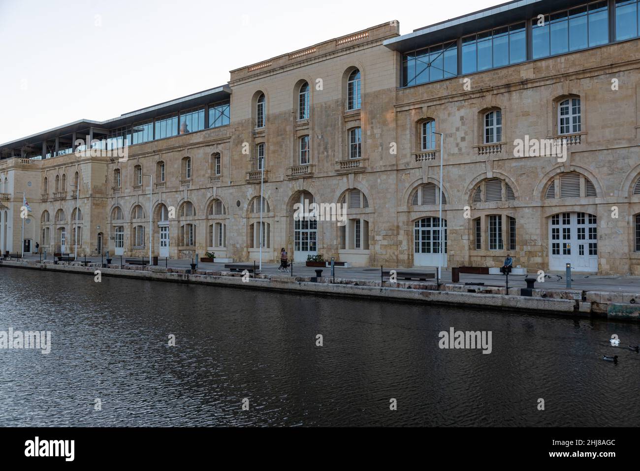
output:
[[[549,221],[549,269],[598,271],[598,221],[586,212],[554,214]]]

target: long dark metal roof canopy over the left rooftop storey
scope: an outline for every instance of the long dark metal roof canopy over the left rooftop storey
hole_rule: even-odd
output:
[[[195,108],[196,106],[202,106],[205,104],[227,100],[231,96],[231,88],[228,84],[218,86],[216,88],[210,88],[204,90],[204,92],[193,93],[186,95],[185,97],[177,98],[175,100],[169,100],[157,105],[148,106],[147,108],[138,109],[125,113],[117,118],[112,118],[106,121],[92,121],[92,120],[77,120],[72,123],[63,124],[47,131],[38,132],[37,134],[31,134],[25,138],[20,138],[14,141],[10,141],[4,144],[0,144],[0,150],[3,148],[21,148],[42,141],[55,139],[64,134],[71,134],[72,132],[86,131],[90,127],[94,128],[106,128],[113,129],[116,127],[122,127],[125,125],[137,123],[145,120],[152,120],[159,116],[170,115],[177,111]]]

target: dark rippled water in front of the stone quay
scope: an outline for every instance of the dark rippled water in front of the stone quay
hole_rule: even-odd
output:
[[[640,423],[640,356],[607,342],[637,324],[1,268],[10,326],[52,352],[0,350],[0,426]],[[451,326],[492,354],[440,350]]]

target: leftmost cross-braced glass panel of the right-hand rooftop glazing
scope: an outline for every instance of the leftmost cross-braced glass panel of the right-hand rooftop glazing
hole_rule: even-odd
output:
[[[403,55],[403,86],[449,79],[457,75],[456,42],[433,45]]]

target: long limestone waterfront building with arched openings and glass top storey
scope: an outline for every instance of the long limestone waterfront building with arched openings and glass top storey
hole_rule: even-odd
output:
[[[262,234],[269,262],[282,247],[387,267],[494,267],[509,253],[529,272],[640,275],[640,6],[525,3],[404,36],[391,21],[232,70],[228,86],[3,145],[0,248],[21,249],[25,191],[29,250],[74,253],[77,226],[79,254],[148,255],[151,222],[161,257],[258,260]],[[199,130],[183,133],[189,116]],[[63,135],[113,141],[116,128],[126,159],[60,151]],[[305,200],[344,204],[344,225],[296,220]]]

